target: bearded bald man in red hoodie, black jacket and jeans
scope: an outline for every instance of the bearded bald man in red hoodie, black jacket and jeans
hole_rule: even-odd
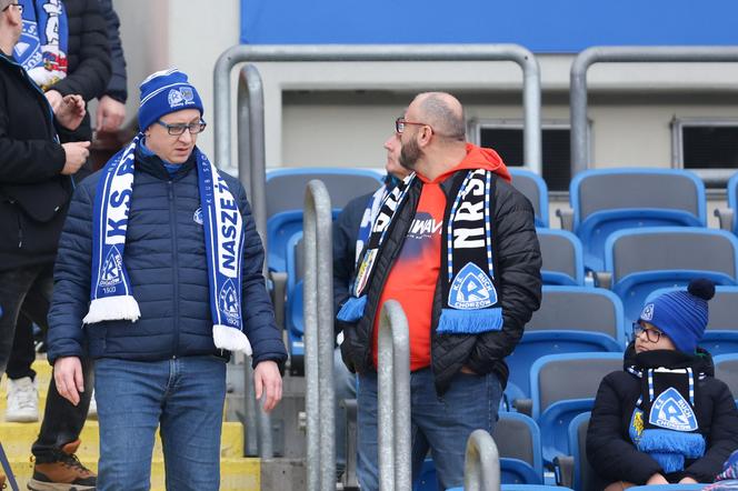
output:
[[[378,314],[393,299],[409,324],[413,473],[430,450],[448,489],[463,485],[469,434],[493,431],[503,359],[540,303],[541,258],[530,202],[497,152],[466,142],[455,97],[419,94],[395,129],[415,173],[382,203],[338,313],[359,373],[358,478],[378,489]]]

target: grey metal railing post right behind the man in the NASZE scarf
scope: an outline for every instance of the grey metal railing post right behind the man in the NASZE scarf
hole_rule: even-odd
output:
[[[238,79],[238,169],[251,203],[266,202],[265,187],[253,186],[266,181],[265,142],[263,142],[263,91],[259,71],[252,64],[241,69]],[[216,137],[217,138],[217,137]],[[256,207],[252,217],[257,231],[265,248],[263,275],[269,278],[267,264],[267,210]],[[275,454],[271,434],[271,417],[263,411],[261,404],[250,400],[253,398],[253,371],[251,359],[246,359],[245,367],[245,423],[246,454],[259,455],[262,459]],[[256,430],[256,431],[255,431]]]

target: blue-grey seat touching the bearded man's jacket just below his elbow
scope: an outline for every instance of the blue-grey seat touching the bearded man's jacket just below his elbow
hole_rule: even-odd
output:
[[[622,303],[615,293],[600,288],[543,285],[540,309],[505,359],[510,370],[507,399],[530,398],[530,367],[546,354],[621,353],[625,345]]]

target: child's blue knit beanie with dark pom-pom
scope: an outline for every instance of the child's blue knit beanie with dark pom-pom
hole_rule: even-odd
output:
[[[712,297],[715,283],[699,278],[689,283],[687,291],[664,293],[647,303],[640,320],[656,325],[679,351],[694,354],[707,328],[707,301]]]

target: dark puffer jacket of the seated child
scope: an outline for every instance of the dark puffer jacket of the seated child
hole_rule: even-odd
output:
[[[695,413],[699,432],[707,441],[701,459],[687,460],[685,471],[665,475],[676,483],[685,477],[698,482],[712,482],[730,452],[738,449],[738,410],[730,389],[714,378],[712,359],[705,350],[696,357],[679,351],[651,351],[636,354],[631,343],[626,350],[625,369],[688,368],[695,374],[707,377],[696,380]],[[636,401],[641,393],[641,380],[628,371],[612,372],[602,379],[587,433],[587,459],[595,471],[608,482],[628,481],[645,484],[661,473],[660,465],[650,455],[639,452],[630,440],[628,429]]]

